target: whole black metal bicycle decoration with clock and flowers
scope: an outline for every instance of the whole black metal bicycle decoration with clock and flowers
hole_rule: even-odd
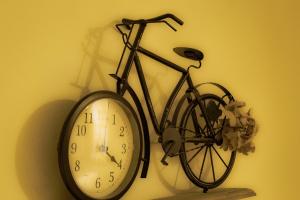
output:
[[[151,19],[122,19],[116,28],[122,35],[124,49],[116,72],[110,74],[116,80],[116,92],[88,94],[68,115],[58,145],[59,166],[65,185],[77,199],[121,198],[132,185],[141,163],[141,178],[147,177],[150,162],[148,122],[145,109],[128,83],[132,66],[136,67],[151,122],[165,152],[161,159],[163,165],[168,165],[168,157],[179,156],[189,180],[207,192],[228,177],[237,150],[244,153],[253,150],[251,139],[256,130],[255,121],[249,113],[241,112],[243,104],[234,101],[232,94],[218,83],[194,84],[190,71],[200,68],[201,51],[174,48],[178,55],[199,62],[198,66],[184,68],[141,47],[143,32],[149,24],[163,23],[176,31],[167,20],[183,25],[173,14]],[[135,35],[132,34],[134,27],[137,27]],[[132,43],[130,37],[133,37]],[[126,51],[129,56],[120,72]],[[160,122],[154,112],[140,54],[181,73]],[[184,84],[188,89],[174,105]],[[202,93],[199,86],[205,84],[220,89],[223,95]],[[123,97],[126,92],[134,105]],[[183,106],[185,104],[187,106]],[[227,151],[228,148],[231,150]]]

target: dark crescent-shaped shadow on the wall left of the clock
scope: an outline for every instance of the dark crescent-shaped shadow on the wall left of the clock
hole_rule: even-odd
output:
[[[74,104],[71,100],[57,100],[39,107],[19,134],[16,174],[30,200],[74,199],[60,176],[57,153],[61,128]]]

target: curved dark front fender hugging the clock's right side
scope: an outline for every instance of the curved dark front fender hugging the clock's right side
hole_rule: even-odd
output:
[[[118,77],[116,74],[110,74],[111,77],[116,79],[119,83],[124,84],[123,87],[125,87],[131,98],[133,99],[135,106],[139,112],[140,120],[142,123],[142,129],[143,129],[143,137],[144,137],[144,156],[143,156],[143,168],[141,172],[141,178],[146,178],[147,177],[147,172],[150,164],[150,136],[149,136],[149,128],[148,128],[148,123],[146,120],[146,115],[144,112],[144,109],[142,107],[142,104],[135,93],[135,91],[132,89],[132,87],[126,82],[123,81],[120,77]],[[117,89],[118,90],[118,89]],[[120,91],[120,90],[119,90]],[[118,93],[118,91],[117,91]]]

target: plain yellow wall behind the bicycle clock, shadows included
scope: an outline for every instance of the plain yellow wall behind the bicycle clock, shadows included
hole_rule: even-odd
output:
[[[253,107],[260,125],[255,154],[239,155],[223,186],[252,188],[258,194],[252,199],[299,199],[299,9],[296,0],[1,0],[1,199],[71,199],[58,173],[56,144],[66,113],[86,92],[75,83],[90,91],[114,89],[107,74],[114,72],[122,43],[113,24],[166,12],[185,25],[177,33],[153,25],[142,44],[182,65],[190,62],[173,47],[201,49],[205,59],[195,82],[225,85]],[[178,75],[143,61],[161,113]],[[92,68],[97,73],[89,76]],[[166,76],[170,84],[162,82]],[[137,178],[125,199],[192,187],[177,158],[165,168],[160,147],[152,147],[148,178]]]

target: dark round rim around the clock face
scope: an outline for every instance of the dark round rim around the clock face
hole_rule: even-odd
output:
[[[116,190],[114,190],[111,194],[107,195],[105,198],[95,199],[92,198],[91,196],[88,196],[83,191],[81,191],[81,189],[76,184],[73,178],[70,169],[70,164],[69,164],[69,141],[72,134],[73,126],[79,114],[92,102],[95,102],[100,99],[105,99],[105,98],[111,98],[117,101],[120,104],[120,106],[123,107],[124,111],[127,112],[127,114],[131,113],[128,114],[128,116],[132,126],[134,151],[133,151],[132,161],[130,163],[129,169],[120,186]],[[68,190],[73,194],[73,196],[80,200],[119,199],[130,188],[137,175],[141,163],[142,146],[143,146],[143,141],[142,141],[140,122],[138,120],[138,117],[134,109],[128,103],[128,101],[122,96],[111,91],[97,91],[91,93],[86,97],[82,98],[72,108],[71,112],[69,113],[64,123],[61,132],[61,137],[58,146],[58,157],[59,157],[59,168],[60,168],[63,181],[67,186]]]

